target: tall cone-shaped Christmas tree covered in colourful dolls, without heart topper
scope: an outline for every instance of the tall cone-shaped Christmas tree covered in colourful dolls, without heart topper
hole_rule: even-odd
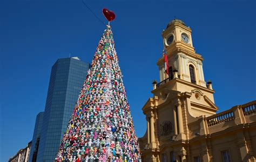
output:
[[[122,77],[107,25],[56,161],[140,161]]]

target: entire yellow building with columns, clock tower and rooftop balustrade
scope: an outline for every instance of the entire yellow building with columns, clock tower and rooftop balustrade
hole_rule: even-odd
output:
[[[174,19],[162,33],[169,60],[157,62],[160,83],[142,110],[147,130],[139,138],[143,161],[255,161],[256,101],[216,113],[212,83],[205,82],[203,57],[192,30]]]

